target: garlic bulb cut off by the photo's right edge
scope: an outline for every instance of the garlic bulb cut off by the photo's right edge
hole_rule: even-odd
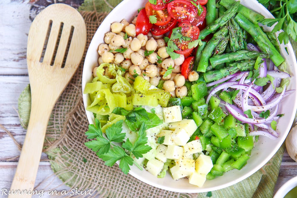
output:
[[[297,162],[297,123],[286,138],[286,148],[289,156]]]

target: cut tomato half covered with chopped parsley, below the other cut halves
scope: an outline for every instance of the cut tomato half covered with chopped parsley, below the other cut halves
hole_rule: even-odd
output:
[[[182,39],[173,39],[173,42],[180,50],[187,50],[189,42],[197,40],[199,37],[200,30],[197,26],[193,26],[190,23],[181,23],[178,26],[181,27],[181,34],[186,37],[190,37],[190,40],[185,41]],[[188,51],[187,51],[188,52]],[[192,52],[192,51],[191,51]],[[191,52],[189,54],[191,54]],[[177,52],[176,52],[177,53]],[[187,54],[188,54],[187,53]],[[189,55],[188,55],[189,56]]]

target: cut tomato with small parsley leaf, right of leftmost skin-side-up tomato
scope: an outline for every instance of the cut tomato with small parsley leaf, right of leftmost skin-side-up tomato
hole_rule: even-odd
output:
[[[168,14],[167,9],[154,10],[151,7],[150,2],[146,3],[146,15],[148,17],[152,15],[156,15],[156,18],[157,18],[157,23],[155,23],[156,26],[164,26],[167,23],[169,23],[171,20],[171,16]]]

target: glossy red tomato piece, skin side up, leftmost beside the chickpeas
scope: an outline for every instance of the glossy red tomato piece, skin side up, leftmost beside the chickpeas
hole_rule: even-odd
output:
[[[148,34],[152,26],[153,24],[149,22],[149,18],[146,16],[146,10],[141,9],[136,19],[136,35],[140,33],[144,35]]]

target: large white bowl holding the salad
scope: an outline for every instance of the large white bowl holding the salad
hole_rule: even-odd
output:
[[[117,7],[115,7],[110,14],[105,18],[101,23],[100,27],[96,31],[89,49],[86,54],[86,59],[83,66],[83,77],[82,77],[82,88],[84,90],[86,83],[91,82],[92,80],[92,69],[98,65],[98,45],[104,42],[104,34],[110,31],[110,23],[119,22],[123,18],[131,21],[134,16],[137,15],[137,10],[141,7],[144,7],[147,0],[124,0]],[[273,18],[271,13],[265,9],[261,4],[256,0],[241,0],[241,4],[244,4],[246,7],[249,7],[252,10],[255,10],[266,18]],[[285,47],[289,52],[287,55]],[[297,63],[294,56],[293,48],[291,45],[282,45],[282,55],[286,59],[289,68],[288,71],[292,76],[290,85],[288,89],[296,89],[296,69]],[[173,180],[169,174],[165,178],[157,178],[151,175],[146,170],[139,170],[137,167],[133,166],[129,172],[135,178],[151,185],[158,187],[160,189],[165,189],[169,191],[184,192],[184,193],[199,193],[199,192],[208,192],[218,189],[222,189],[228,186],[231,186],[235,183],[244,180],[249,177],[257,170],[259,170],[264,164],[266,164],[269,159],[277,152],[279,147],[284,142],[290,127],[293,123],[294,116],[296,113],[296,98],[297,92],[295,91],[290,96],[287,96],[282,100],[282,104],[279,108],[279,113],[284,113],[284,116],[279,118],[277,132],[280,134],[277,140],[271,140],[266,137],[260,137],[259,141],[253,148],[250,159],[241,170],[231,170],[225,173],[223,176],[217,177],[214,180],[207,180],[203,187],[197,187],[188,183],[187,179]],[[89,97],[84,94],[83,102],[85,107],[90,104]],[[94,123],[94,116],[91,112],[86,111],[89,123]],[[108,167],[106,167],[108,170]]]

